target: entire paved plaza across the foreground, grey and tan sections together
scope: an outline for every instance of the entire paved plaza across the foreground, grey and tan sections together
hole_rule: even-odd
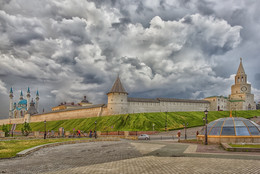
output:
[[[0,160],[0,173],[260,173],[260,153],[174,141],[104,141],[43,148]]]

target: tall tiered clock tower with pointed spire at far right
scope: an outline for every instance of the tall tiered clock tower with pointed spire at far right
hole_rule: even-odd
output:
[[[242,58],[235,76],[235,84],[231,86],[231,95],[229,96],[231,110],[255,110],[256,104],[254,94],[251,94],[251,84],[247,83]]]

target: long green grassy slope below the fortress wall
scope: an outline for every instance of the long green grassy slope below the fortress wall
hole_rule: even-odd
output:
[[[66,131],[95,129],[97,121],[98,131],[163,131],[167,117],[167,128],[169,130],[183,128],[183,123],[189,123],[188,127],[202,126],[204,112],[168,112],[166,113],[139,113],[125,114],[105,117],[82,118],[73,120],[48,121],[47,130],[57,131],[63,127]],[[218,118],[228,117],[229,111],[211,111],[208,113],[208,120],[213,121]],[[235,112],[233,112],[235,116]],[[256,111],[236,111],[237,117],[251,118],[260,116],[260,110]],[[30,123],[33,131],[44,131],[44,123]],[[17,125],[16,130],[21,130],[22,125]]]

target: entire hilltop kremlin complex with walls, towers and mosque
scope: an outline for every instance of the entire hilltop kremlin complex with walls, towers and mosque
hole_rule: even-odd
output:
[[[29,88],[28,91],[30,92]],[[247,83],[242,59],[235,77],[235,84],[232,85],[229,97],[213,96],[204,100],[187,100],[175,98],[130,98],[119,77],[117,77],[111,90],[107,93],[107,104],[97,104],[86,100],[86,97],[79,104],[61,103],[52,108],[51,112],[38,114],[39,93],[37,91],[37,103],[30,102],[30,93],[27,91],[26,106],[23,106],[24,114],[17,114],[17,108],[13,104],[13,91],[10,90],[9,119],[0,120],[2,124],[21,124],[24,122],[43,122],[55,120],[67,120],[76,118],[101,117],[128,113],[149,113],[149,112],[177,112],[177,111],[221,111],[221,110],[255,110],[256,103],[254,95],[251,94],[251,85]],[[20,96],[20,100],[24,100]],[[23,103],[25,105],[25,101]],[[21,105],[22,107],[22,105]],[[21,109],[20,109],[21,110]],[[21,111],[20,111],[21,112]],[[16,113],[16,114],[15,114]]]

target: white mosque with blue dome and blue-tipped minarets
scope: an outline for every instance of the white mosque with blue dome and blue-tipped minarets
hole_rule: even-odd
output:
[[[24,115],[29,111],[30,108],[30,98],[31,98],[31,92],[30,88],[28,87],[27,89],[27,95],[26,99],[23,98],[23,92],[21,90],[20,93],[20,100],[18,103],[13,101],[13,88],[11,87],[10,89],[10,106],[9,106],[9,118],[22,118]],[[35,102],[33,102],[33,99],[31,100],[31,105],[35,104],[35,109],[38,111],[38,106],[39,106],[39,91],[36,91],[36,97],[35,97]]]

